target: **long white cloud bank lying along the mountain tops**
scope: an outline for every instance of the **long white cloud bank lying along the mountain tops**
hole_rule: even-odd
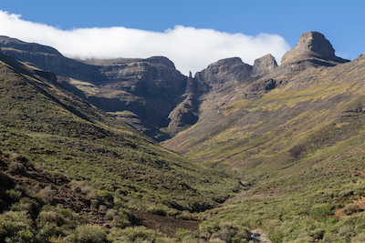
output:
[[[280,35],[229,34],[182,25],[176,25],[163,33],[125,27],[62,30],[25,21],[21,15],[1,10],[0,35],[52,46],[68,57],[166,56],[185,75],[189,71],[201,71],[219,59],[233,56],[239,56],[245,63],[253,65],[256,58],[271,54],[279,62],[290,48]]]

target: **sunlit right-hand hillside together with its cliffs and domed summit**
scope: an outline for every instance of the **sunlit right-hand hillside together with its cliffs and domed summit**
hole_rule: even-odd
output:
[[[332,51],[322,55],[317,49]],[[302,35],[283,56],[282,65],[266,76],[254,82],[227,82],[204,96],[197,124],[164,145],[250,177],[277,172],[295,164],[300,153],[356,133],[360,118],[352,115],[362,110],[364,71],[362,56],[347,62],[334,56],[323,35]],[[337,128],[330,127],[334,123]]]

